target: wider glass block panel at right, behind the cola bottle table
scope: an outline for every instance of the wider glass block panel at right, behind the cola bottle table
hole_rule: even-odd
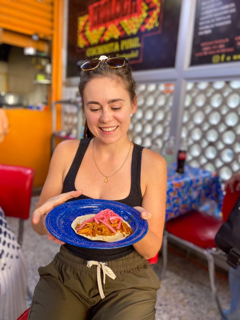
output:
[[[240,80],[188,82],[181,137],[187,163],[217,171],[225,181],[240,170]]]

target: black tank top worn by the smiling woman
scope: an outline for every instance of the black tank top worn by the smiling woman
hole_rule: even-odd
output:
[[[76,152],[76,156],[63,182],[63,192],[76,190],[75,188],[76,175],[91,139],[92,138],[80,140],[79,147]],[[142,158],[143,147],[136,144],[133,144],[133,145],[134,146],[132,151],[131,191],[130,191],[130,194],[125,199],[115,200],[117,202],[127,204],[131,207],[141,206],[141,203],[142,203],[140,176],[141,176],[141,158]],[[81,195],[77,198],[69,199],[68,201],[79,200],[79,199],[91,199],[91,197]],[[116,260],[134,251],[134,248],[132,245],[123,247],[123,248],[116,248],[116,249],[89,249],[89,248],[73,246],[70,244],[64,244],[64,246],[69,252],[76,255],[77,257],[80,257],[85,260],[95,260],[95,261]]]

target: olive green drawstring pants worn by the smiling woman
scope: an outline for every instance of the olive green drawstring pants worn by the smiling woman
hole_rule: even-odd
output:
[[[54,260],[38,269],[29,320],[153,320],[159,280],[137,252],[108,261],[116,275],[106,275],[100,297],[97,266],[87,267],[63,246]],[[102,272],[102,270],[101,270]],[[102,275],[101,275],[102,278]]]

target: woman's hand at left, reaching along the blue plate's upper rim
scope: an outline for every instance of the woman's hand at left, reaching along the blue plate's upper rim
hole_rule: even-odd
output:
[[[48,199],[44,204],[42,204],[33,212],[32,222],[34,224],[37,224],[43,215],[47,215],[49,211],[51,211],[56,206],[63,204],[68,199],[80,196],[82,192],[82,190],[70,191]]]

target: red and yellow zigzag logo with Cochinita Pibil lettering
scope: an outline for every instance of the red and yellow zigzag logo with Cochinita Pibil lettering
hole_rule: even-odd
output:
[[[77,18],[77,52],[86,58],[112,55],[142,62],[144,38],[160,33],[161,0],[100,0]]]

